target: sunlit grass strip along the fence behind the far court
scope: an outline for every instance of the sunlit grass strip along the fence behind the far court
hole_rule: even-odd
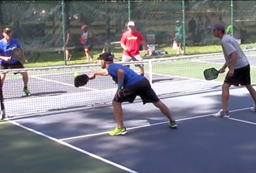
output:
[[[248,45],[241,45],[241,48]],[[252,45],[252,44],[251,44]],[[252,45],[254,47],[254,45]],[[167,44],[159,44],[156,45],[156,49],[167,51],[170,54],[170,57],[177,57],[175,55],[176,51],[173,50],[171,45]],[[67,65],[74,65],[74,64],[95,64],[98,63],[96,58],[98,55],[102,53],[100,49],[93,49],[92,55],[94,57],[93,61],[86,61],[85,53],[82,50],[72,50],[70,51],[73,58],[71,61],[67,61]],[[115,58],[120,61],[121,60],[121,48],[115,48],[113,50],[115,54]],[[187,46],[186,47],[186,54],[206,54],[206,53],[216,53],[222,52],[222,48],[220,45],[207,45],[207,46]],[[141,55],[144,56],[146,52],[141,52]],[[24,64],[26,68],[30,67],[50,67],[50,66],[60,66],[65,65],[64,62],[64,54],[63,52],[51,52],[51,53],[37,53],[37,54],[26,54],[26,57],[29,60],[28,64]]]

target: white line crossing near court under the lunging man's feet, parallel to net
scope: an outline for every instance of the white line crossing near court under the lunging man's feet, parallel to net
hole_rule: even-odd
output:
[[[235,109],[235,110],[231,110],[230,112],[238,112],[238,111],[243,111],[243,110],[250,109],[250,108],[251,107],[243,108],[243,109]],[[198,118],[203,118],[203,117],[213,116],[213,115],[214,115],[214,113],[213,114],[207,114],[207,115],[199,115],[199,116],[194,116],[194,117],[184,118],[184,119],[177,119],[176,122],[181,122],[181,121],[190,120],[190,119],[198,119]],[[161,125],[161,124],[165,124],[165,123],[168,123],[168,122],[169,121],[158,122],[158,123],[155,123],[155,124],[141,125],[141,126],[137,126],[137,127],[127,128],[126,130],[144,128],[144,127],[151,127],[151,126],[154,126],[154,125]],[[60,141],[66,141],[66,140],[70,140],[70,139],[78,139],[78,138],[86,138],[86,137],[92,137],[92,136],[98,136],[98,135],[105,135],[105,134],[108,134],[108,133],[109,133],[109,131],[104,131],[104,132],[101,132],[101,133],[95,133],[95,134],[90,134],[90,135],[80,135],[80,136],[74,136],[74,137],[70,137],[70,138],[62,138],[62,139],[59,139],[59,140]]]

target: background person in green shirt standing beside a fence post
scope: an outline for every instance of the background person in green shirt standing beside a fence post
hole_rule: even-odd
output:
[[[177,53],[176,54],[180,54],[180,51],[181,51],[181,54],[184,54],[184,51],[183,51],[183,37],[184,37],[184,34],[183,34],[183,26],[181,25],[180,21],[176,21],[176,26],[174,27],[174,33],[175,33],[175,38],[174,38],[174,41],[177,42]]]

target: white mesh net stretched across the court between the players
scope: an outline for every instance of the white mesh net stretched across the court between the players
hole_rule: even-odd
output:
[[[252,83],[256,82],[256,49],[244,51],[251,63]],[[117,62],[119,63],[119,62]],[[191,93],[221,86],[225,74],[216,80],[207,81],[203,70],[220,68],[224,63],[222,53],[183,56],[181,58],[157,58],[141,62],[129,62],[130,67],[139,73],[135,64],[144,64],[147,77],[159,97],[176,93]],[[97,76],[87,85],[74,86],[75,72],[90,74],[100,70],[100,64],[74,65],[63,67],[40,67],[29,69],[0,70],[7,73],[3,85],[3,103],[7,117],[39,115],[63,109],[84,108],[112,102],[117,86],[109,76]],[[23,80],[20,74],[29,74],[30,96],[23,93]],[[140,98],[137,97],[139,100]]]

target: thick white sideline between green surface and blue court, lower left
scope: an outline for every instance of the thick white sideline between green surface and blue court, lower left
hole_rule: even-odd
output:
[[[73,146],[73,145],[71,145],[71,144],[68,144],[68,143],[66,143],[66,142],[64,142],[64,141],[60,141],[60,140],[58,140],[58,139],[56,139],[56,138],[53,138],[53,137],[51,137],[51,136],[49,136],[49,135],[46,135],[46,134],[44,134],[44,133],[42,133],[42,132],[33,130],[32,128],[28,128],[28,127],[26,127],[26,126],[24,126],[24,125],[21,125],[21,124],[15,122],[15,121],[13,121],[13,120],[9,120],[8,122],[10,122],[10,123],[12,123],[12,124],[14,124],[14,125],[17,125],[17,126],[19,126],[19,127],[21,127],[21,128],[24,128],[24,129],[26,129],[26,130],[28,130],[28,131],[31,131],[31,132],[33,132],[33,133],[36,133],[37,135],[41,135],[41,136],[43,136],[43,137],[45,137],[45,138],[48,138],[48,139],[50,139],[50,140],[52,140],[52,141],[55,141],[55,142],[57,142],[57,143],[59,143],[59,144],[65,145],[66,147],[72,148],[73,150],[76,150],[76,151],[79,151],[79,152],[81,152],[81,153],[83,153],[83,154],[86,154],[86,155],[89,155],[89,156],[91,156],[91,157],[94,157],[95,159],[101,160],[102,162],[105,162],[105,163],[108,163],[108,164],[110,164],[110,165],[113,165],[114,167],[118,167],[118,168],[121,169],[121,170],[125,170],[125,171],[127,171],[127,172],[129,172],[129,173],[138,173],[138,172],[136,172],[135,170],[131,170],[131,169],[127,168],[127,167],[121,166],[121,165],[119,165],[119,164],[117,164],[117,163],[114,163],[114,162],[112,162],[112,161],[110,161],[110,160],[104,159],[103,157],[100,157],[100,156],[98,156],[98,155],[96,155],[96,154],[92,154],[92,153],[90,153],[90,152],[88,152],[88,151],[82,150],[82,149],[79,148],[79,147],[75,147],[75,146]]]

